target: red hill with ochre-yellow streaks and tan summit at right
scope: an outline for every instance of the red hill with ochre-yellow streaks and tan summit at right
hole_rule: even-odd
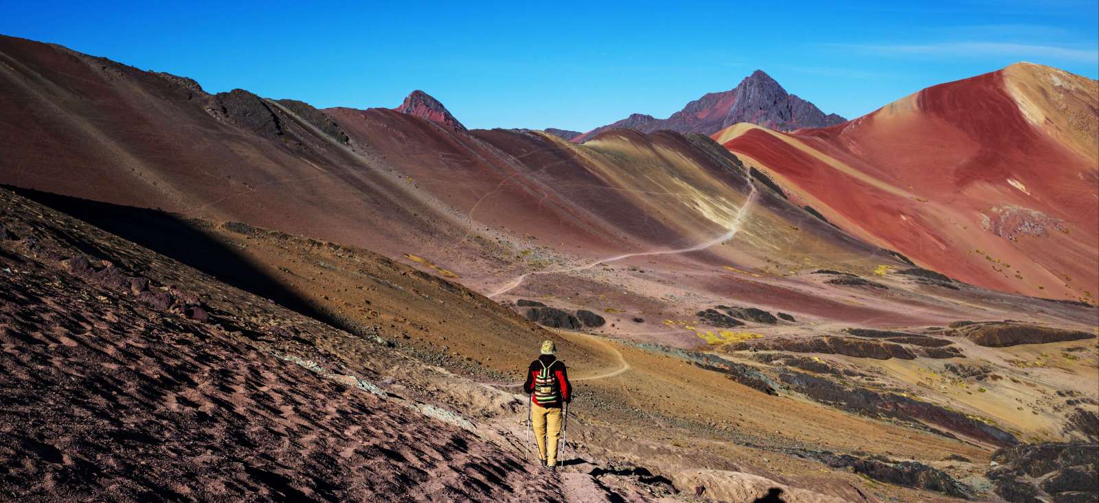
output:
[[[1006,292],[1095,302],[1099,85],[1017,64],[844,124],[714,135],[797,199],[917,264]]]

